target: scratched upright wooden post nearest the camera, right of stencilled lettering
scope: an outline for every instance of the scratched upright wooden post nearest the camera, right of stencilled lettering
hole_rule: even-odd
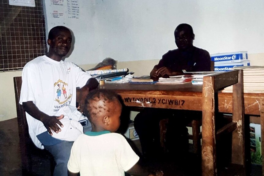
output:
[[[203,78],[202,176],[216,176],[215,92],[212,77]]]

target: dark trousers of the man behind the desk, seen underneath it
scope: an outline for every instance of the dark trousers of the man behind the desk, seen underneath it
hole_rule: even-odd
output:
[[[160,120],[168,118],[165,145],[172,155],[182,156],[188,151],[188,116],[192,111],[145,108],[134,119],[143,156],[146,158],[162,155],[160,145]]]

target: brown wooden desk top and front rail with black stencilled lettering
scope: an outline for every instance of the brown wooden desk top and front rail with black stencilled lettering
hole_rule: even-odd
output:
[[[135,107],[160,107],[171,109],[191,109],[201,110],[202,107],[202,85],[192,85],[191,82],[185,84],[104,84],[100,85],[100,88],[114,90],[120,94],[124,100],[125,98],[156,98],[159,99],[178,99],[184,100],[183,106],[174,106],[166,104],[166,101],[160,103],[136,103],[125,102],[127,106]],[[232,112],[232,93],[219,92],[219,111],[220,112]],[[264,93],[244,93],[245,113],[259,115],[260,105],[264,99]],[[169,101],[168,100],[168,101]],[[141,99],[140,99],[141,101]],[[145,100],[144,100],[145,101]],[[148,100],[149,101],[149,100]],[[172,101],[172,100],[171,100]],[[264,101],[264,100],[263,100]],[[162,104],[165,103],[165,104]],[[175,102],[174,102],[175,103]],[[195,105],[195,106],[194,106]]]

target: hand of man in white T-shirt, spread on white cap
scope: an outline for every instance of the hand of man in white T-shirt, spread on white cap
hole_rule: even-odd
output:
[[[58,125],[63,127],[62,122],[59,121],[62,118],[64,118],[64,115],[60,115],[59,117],[57,117],[57,116],[46,116],[46,117],[41,119],[41,122],[43,122],[44,126],[47,128],[50,135],[52,135],[51,130],[53,130],[55,133],[58,133],[61,131],[61,129]]]

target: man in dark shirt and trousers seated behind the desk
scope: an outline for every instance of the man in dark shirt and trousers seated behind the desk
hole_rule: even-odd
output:
[[[155,81],[159,77],[182,75],[187,72],[210,71],[210,54],[208,51],[194,47],[194,33],[189,24],[179,24],[174,31],[178,49],[168,51],[150,72]],[[175,85],[176,86],[176,85]],[[201,114],[201,113],[200,113]],[[134,127],[138,133],[142,152],[145,158],[161,154],[159,122],[169,118],[166,143],[169,152],[183,156],[188,151],[187,119],[200,115],[190,111],[145,108],[134,119]],[[175,156],[175,155],[174,155]]]

